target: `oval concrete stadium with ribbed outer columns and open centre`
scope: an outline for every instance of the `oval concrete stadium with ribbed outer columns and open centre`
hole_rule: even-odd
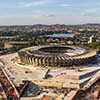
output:
[[[18,52],[23,64],[66,67],[86,64],[96,57],[96,50],[65,45],[35,46]]]

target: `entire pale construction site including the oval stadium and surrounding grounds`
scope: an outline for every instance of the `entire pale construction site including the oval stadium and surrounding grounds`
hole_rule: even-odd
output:
[[[97,51],[42,46],[0,56],[4,100],[99,100]]]

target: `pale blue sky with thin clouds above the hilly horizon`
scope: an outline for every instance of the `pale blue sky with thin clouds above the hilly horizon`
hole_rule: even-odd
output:
[[[0,25],[100,23],[100,0],[0,0]]]

